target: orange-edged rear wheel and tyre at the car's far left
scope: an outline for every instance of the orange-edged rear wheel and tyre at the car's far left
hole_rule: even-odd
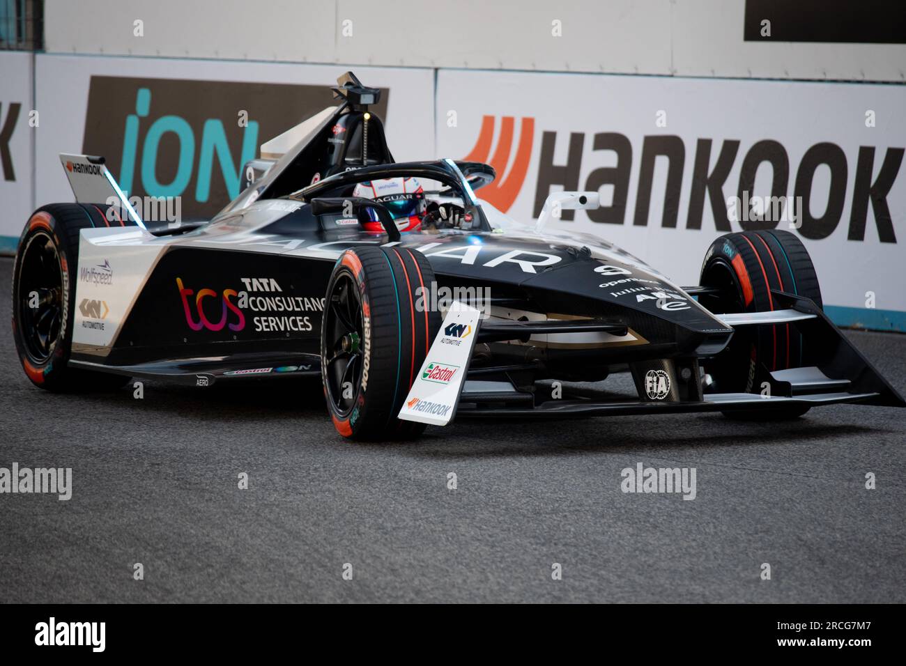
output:
[[[116,224],[116,223],[115,223]],[[47,391],[111,391],[129,377],[70,368],[79,234],[110,226],[100,206],[38,208],[19,238],[13,269],[13,338],[25,375]]]

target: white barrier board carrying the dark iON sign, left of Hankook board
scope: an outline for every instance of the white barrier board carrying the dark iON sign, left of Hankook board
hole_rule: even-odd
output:
[[[72,200],[60,152],[101,155],[130,197],[178,197],[185,218],[236,197],[240,169],[266,140],[335,105],[342,65],[38,55],[35,200]],[[382,89],[395,159],[434,148],[430,70],[360,67]]]

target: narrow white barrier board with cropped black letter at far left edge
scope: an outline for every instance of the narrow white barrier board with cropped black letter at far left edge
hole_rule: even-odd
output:
[[[0,53],[0,252],[15,251],[32,212],[32,54]],[[34,127],[34,123],[38,123]],[[60,169],[59,163],[57,169]]]

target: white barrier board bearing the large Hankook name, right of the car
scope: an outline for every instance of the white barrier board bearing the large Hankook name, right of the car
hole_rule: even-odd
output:
[[[437,152],[491,162],[477,196],[525,223],[550,192],[600,191],[601,209],[547,227],[612,240],[681,285],[698,284],[716,236],[749,224],[728,220],[728,198],[801,195],[791,230],[832,316],[902,328],[904,111],[906,86],[441,71]]]

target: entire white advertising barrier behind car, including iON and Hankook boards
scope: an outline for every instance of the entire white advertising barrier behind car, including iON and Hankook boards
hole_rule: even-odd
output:
[[[335,103],[327,86],[346,69],[0,54],[0,251],[36,205],[72,200],[60,152],[104,156],[130,196],[212,215],[262,143]],[[488,161],[497,179],[478,194],[512,217],[533,222],[555,191],[598,191],[602,208],[551,226],[687,285],[715,236],[789,228],[834,321],[906,330],[906,86],[354,69],[383,91],[395,159]]]

